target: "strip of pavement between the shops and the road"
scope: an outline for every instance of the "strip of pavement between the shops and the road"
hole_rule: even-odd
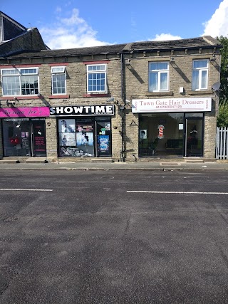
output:
[[[43,162],[30,159],[28,162],[3,161],[0,160],[0,169],[58,169],[58,170],[228,170],[228,160],[205,161],[202,159],[163,160],[140,162]]]

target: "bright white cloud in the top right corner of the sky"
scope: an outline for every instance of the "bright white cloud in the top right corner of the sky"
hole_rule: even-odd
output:
[[[204,33],[214,38],[228,34],[228,0],[223,0],[209,21],[203,23]]]

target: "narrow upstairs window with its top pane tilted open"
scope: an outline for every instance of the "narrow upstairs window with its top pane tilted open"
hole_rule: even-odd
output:
[[[51,67],[52,94],[66,94],[66,67]]]

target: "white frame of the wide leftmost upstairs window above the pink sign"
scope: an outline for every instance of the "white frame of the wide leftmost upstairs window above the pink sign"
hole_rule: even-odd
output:
[[[26,73],[26,71],[29,72],[29,70],[31,71],[31,73]],[[8,72],[8,73],[7,73]],[[14,72],[14,73],[11,73]],[[38,83],[38,92],[34,93],[34,94],[22,94],[23,90],[26,90],[26,88],[22,88],[22,80],[24,78],[24,76],[33,76],[33,75],[37,75],[37,83]],[[7,86],[10,85],[11,83],[4,83],[4,78],[6,77],[18,77],[18,87],[15,88],[15,92],[12,94],[4,94],[4,85]],[[15,82],[16,83],[16,82]],[[34,82],[35,83],[35,82]],[[13,83],[14,84],[14,83]],[[13,86],[13,85],[12,85]],[[2,68],[1,69],[1,90],[2,90],[2,95],[3,96],[24,96],[24,95],[28,95],[28,96],[33,96],[33,95],[38,95],[39,93],[39,75],[38,75],[38,67],[30,67],[30,68]],[[6,89],[7,91],[9,90],[9,88]],[[11,90],[13,90],[13,88],[11,88]],[[28,88],[27,90],[31,90],[31,88]],[[34,91],[36,90],[36,88],[34,88]]]

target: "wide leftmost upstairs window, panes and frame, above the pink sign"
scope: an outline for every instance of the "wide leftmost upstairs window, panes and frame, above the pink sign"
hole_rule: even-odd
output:
[[[38,68],[7,68],[1,70],[3,95],[38,94]]]

